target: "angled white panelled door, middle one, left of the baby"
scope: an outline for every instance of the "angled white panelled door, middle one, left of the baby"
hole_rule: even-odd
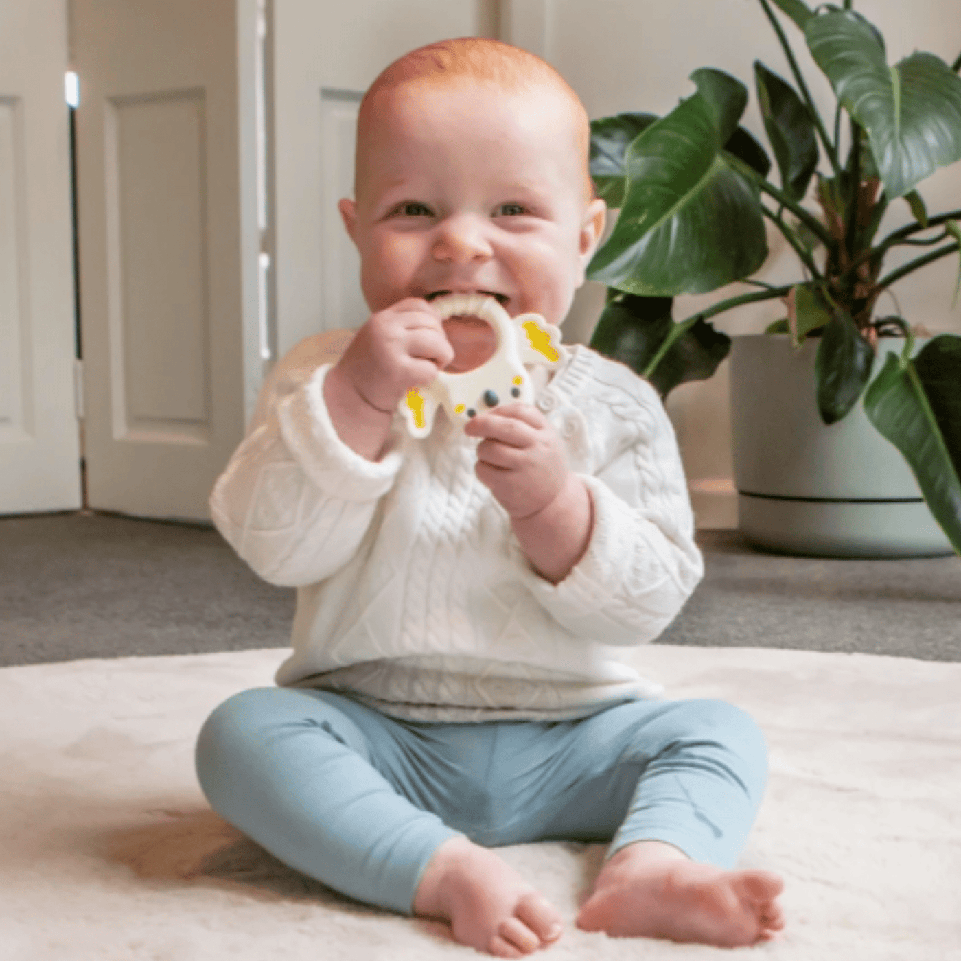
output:
[[[259,380],[257,2],[70,12],[88,503],[204,520]]]

